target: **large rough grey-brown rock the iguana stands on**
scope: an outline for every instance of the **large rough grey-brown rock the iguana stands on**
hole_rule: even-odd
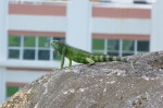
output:
[[[163,51],[54,70],[0,108],[163,108]]]

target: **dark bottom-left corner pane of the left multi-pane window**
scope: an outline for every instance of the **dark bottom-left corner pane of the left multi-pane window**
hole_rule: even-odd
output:
[[[18,49],[9,49],[9,58],[10,59],[18,59],[20,50]]]

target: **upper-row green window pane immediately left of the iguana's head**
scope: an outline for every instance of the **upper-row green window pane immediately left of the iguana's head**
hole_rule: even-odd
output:
[[[50,37],[39,37],[39,47],[49,47],[50,46]]]

